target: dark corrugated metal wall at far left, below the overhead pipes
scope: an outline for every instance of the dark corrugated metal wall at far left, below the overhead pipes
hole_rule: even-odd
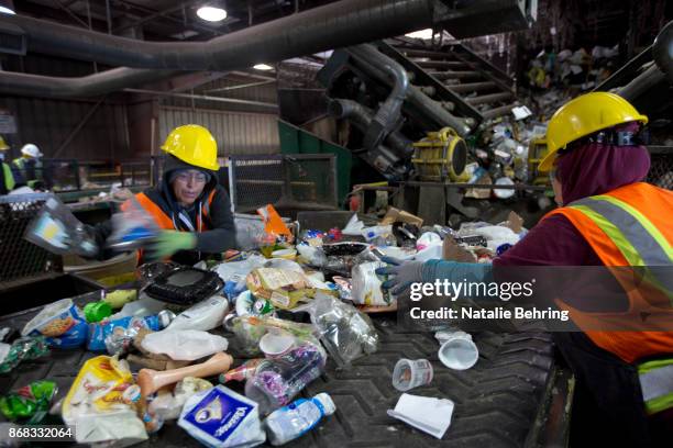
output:
[[[34,143],[47,158],[131,158],[125,107],[107,103],[100,104],[71,142],[56,154],[95,105],[85,101],[0,98],[0,109],[10,111],[16,120],[18,134],[7,135],[13,155],[19,156],[22,145]]]

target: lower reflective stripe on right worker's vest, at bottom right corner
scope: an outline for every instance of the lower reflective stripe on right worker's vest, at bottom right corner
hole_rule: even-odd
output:
[[[673,407],[673,359],[643,362],[638,376],[648,414]]]

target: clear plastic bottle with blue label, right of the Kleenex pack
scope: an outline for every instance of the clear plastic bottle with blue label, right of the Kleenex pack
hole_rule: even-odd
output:
[[[323,416],[332,415],[334,411],[336,406],[331,396],[319,393],[274,411],[264,421],[264,429],[272,445],[284,445],[311,430]]]

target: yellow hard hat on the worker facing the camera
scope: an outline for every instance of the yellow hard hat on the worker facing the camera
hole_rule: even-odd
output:
[[[206,127],[198,124],[186,124],[170,131],[162,149],[195,167],[211,171],[220,169],[218,143]]]

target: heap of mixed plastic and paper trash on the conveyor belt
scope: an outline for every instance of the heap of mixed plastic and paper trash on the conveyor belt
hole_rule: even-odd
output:
[[[0,344],[0,372],[49,350],[91,356],[57,403],[48,379],[2,396],[10,425],[62,418],[77,428],[78,443],[119,447],[174,424],[209,447],[286,444],[339,412],[328,393],[299,397],[328,359],[330,368],[350,369],[378,349],[368,313],[397,306],[376,273],[384,260],[489,262],[526,233],[514,213],[498,225],[454,231],[391,208],[377,225],[353,215],[343,228],[298,235],[273,206],[261,214],[265,234],[255,249],[195,267],[143,265],[140,289],[102,293],[84,306],[73,299],[44,306],[12,344]],[[477,362],[468,334],[435,337],[448,368]],[[391,382],[406,392],[432,377],[428,360],[400,359]],[[423,412],[429,406],[438,412]],[[451,400],[404,393],[388,415],[441,438],[452,412]]]

